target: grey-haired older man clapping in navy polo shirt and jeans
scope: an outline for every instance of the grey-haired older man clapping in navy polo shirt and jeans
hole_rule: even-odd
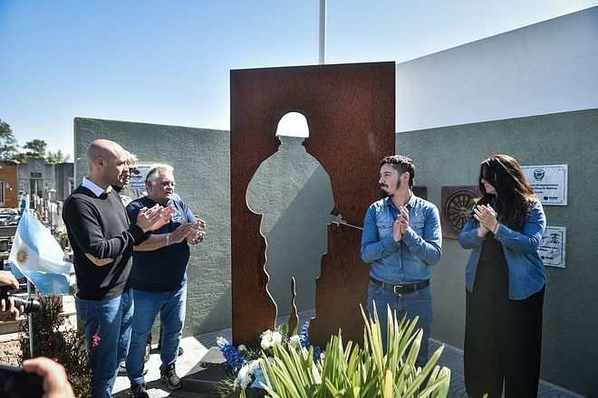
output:
[[[148,195],[127,206],[131,220],[148,206],[171,206],[169,223],[150,232],[149,239],[135,246],[130,273],[135,311],[132,318],[127,374],[131,398],[148,398],[143,377],[144,351],[154,319],[160,314],[164,327],[160,350],[160,382],[169,390],[181,387],[175,369],[178,345],[185,322],[189,244],[203,241],[206,223],[198,220],[187,204],[173,200],[174,170],[168,165],[152,166],[146,176]]]

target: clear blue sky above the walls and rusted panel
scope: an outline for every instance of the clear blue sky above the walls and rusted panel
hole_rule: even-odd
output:
[[[72,118],[229,127],[231,69],[318,60],[318,0],[0,0],[0,118],[72,155]],[[598,0],[328,0],[327,63],[403,62]]]

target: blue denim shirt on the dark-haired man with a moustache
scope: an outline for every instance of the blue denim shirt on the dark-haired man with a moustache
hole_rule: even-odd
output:
[[[391,198],[368,208],[363,220],[362,261],[370,263],[370,276],[399,285],[429,280],[431,267],[442,255],[439,211],[434,204],[411,194],[410,226],[399,242],[392,238],[392,223],[399,209]]]

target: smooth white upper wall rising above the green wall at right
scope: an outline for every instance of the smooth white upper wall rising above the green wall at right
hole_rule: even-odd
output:
[[[397,64],[397,131],[598,108],[598,7]]]

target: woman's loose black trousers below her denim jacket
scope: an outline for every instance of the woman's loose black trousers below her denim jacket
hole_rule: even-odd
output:
[[[544,291],[523,300],[467,292],[464,370],[472,398],[535,397],[540,378]]]

